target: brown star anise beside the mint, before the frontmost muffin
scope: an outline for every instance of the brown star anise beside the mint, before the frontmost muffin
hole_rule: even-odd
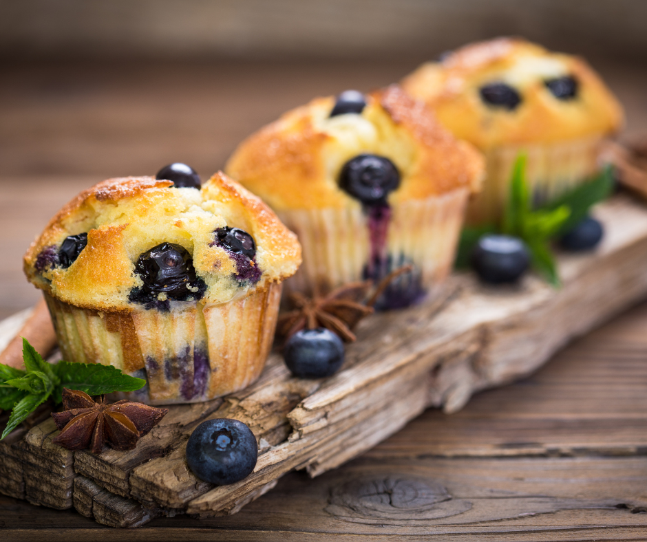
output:
[[[132,450],[168,409],[121,400],[106,404],[103,395],[95,402],[84,391],[63,388],[63,412],[52,412],[61,433],[52,439],[68,450],[90,448],[99,453],[104,444],[115,450]]]

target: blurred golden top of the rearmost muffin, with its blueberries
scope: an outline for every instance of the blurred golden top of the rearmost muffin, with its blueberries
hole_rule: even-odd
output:
[[[623,119],[582,58],[517,38],[466,45],[421,65],[402,85],[456,137],[484,150],[605,135]]]

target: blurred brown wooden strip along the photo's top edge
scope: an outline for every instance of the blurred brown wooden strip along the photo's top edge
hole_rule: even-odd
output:
[[[642,0],[3,0],[12,58],[423,59],[522,34],[644,60]]]

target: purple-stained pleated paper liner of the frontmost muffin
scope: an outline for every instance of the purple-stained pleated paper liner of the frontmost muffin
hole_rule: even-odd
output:
[[[170,404],[213,399],[258,378],[272,347],[281,290],[272,283],[218,305],[176,301],[169,312],[102,312],[45,299],[63,359],[145,378],[145,387],[119,398]]]

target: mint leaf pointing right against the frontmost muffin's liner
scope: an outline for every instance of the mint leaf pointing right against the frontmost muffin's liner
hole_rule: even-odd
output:
[[[124,374],[112,365],[61,361],[55,367],[61,379],[61,388],[78,389],[88,395],[135,391],[146,384],[146,380]]]

